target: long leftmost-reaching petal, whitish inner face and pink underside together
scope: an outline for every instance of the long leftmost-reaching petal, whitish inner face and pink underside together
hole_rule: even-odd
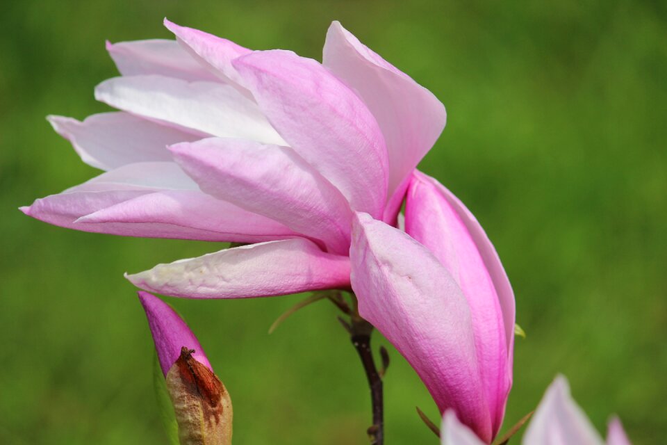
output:
[[[296,236],[202,193],[175,163],[136,163],[22,208],[61,227],[124,236],[254,243]]]

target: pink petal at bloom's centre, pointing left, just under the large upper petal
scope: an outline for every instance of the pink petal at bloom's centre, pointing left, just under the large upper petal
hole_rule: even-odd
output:
[[[345,197],[293,149],[210,138],[170,147],[201,190],[349,252],[352,213]]]

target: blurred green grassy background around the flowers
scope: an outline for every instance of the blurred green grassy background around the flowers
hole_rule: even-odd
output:
[[[51,227],[17,207],[97,174],[49,113],[108,108],[104,40],[172,38],[162,19],[321,57],[339,19],[438,96],[422,169],[477,215],[516,292],[506,427],[557,373],[600,430],[667,440],[667,8],[659,1],[9,1],[0,15],[0,443],[160,444],[152,343],[122,273],[224,245]],[[333,307],[277,332],[299,296],[170,299],[231,391],[235,442],[365,444],[370,402]],[[378,344],[379,341],[376,341]],[[394,350],[388,444],[436,444],[436,408]],[[518,441],[516,441],[518,442]]]

